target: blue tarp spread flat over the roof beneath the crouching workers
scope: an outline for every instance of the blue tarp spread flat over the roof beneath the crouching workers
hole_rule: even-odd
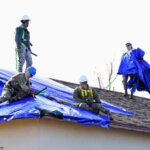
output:
[[[16,72],[13,71],[0,69],[0,93],[2,92],[5,82],[15,73]],[[47,89],[44,93],[51,98],[46,98],[44,95],[37,95],[36,98],[26,97],[11,104],[4,102],[0,105],[0,122],[21,118],[40,118],[40,110],[47,110],[48,112],[60,112],[63,114],[63,120],[73,121],[83,125],[99,125],[104,128],[109,127],[110,119],[107,115],[98,116],[92,112],[57,101],[57,99],[60,98],[76,103],[72,98],[73,89],[48,78],[38,76],[33,77],[30,81],[32,82],[31,88],[36,91],[40,91],[46,86]],[[102,105],[111,112],[122,115],[133,115],[132,112],[105,101],[102,101]]]

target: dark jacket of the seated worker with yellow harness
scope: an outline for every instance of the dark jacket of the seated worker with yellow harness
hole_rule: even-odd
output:
[[[88,88],[86,90],[89,90],[91,87],[88,86]],[[98,94],[96,93],[96,91],[92,89],[92,95],[91,94],[88,94],[87,96],[82,96],[82,89],[80,86],[76,87],[74,92],[73,92],[73,98],[79,102],[79,103],[82,103],[82,102],[86,102],[86,99],[89,99],[91,100],[91,102],[93,102],[93,100],[95,100],[97,103],[100,103],[100,99],[99,99],[99,96]]]

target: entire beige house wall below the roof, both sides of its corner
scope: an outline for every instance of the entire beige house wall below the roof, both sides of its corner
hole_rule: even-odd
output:
[[[149,141],[150,134],[54,119],[0,123],[3,150],[147,150]]]

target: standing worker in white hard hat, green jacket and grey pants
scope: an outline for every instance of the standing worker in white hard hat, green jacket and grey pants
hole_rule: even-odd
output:
[[[18,72],[23,72],[23,65],[26,61],[26,68],[32,66],[30,42],[30,32],[28,31],[30,18],[24,15],[21,19],[21,25],[16,28],[15,42],[18,54]]]

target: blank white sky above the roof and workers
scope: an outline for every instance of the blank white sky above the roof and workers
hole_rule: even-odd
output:
[[[15,28],[28,15],[38,76],[78,83],[85,74],[91,86],[100,77],[106,87],[110,63],[113,79],[126,42],[150,62],[149,14],[148,0],[0,0],[0,68],[15,71]],[[123,92],[121,75],[112,88]]]

